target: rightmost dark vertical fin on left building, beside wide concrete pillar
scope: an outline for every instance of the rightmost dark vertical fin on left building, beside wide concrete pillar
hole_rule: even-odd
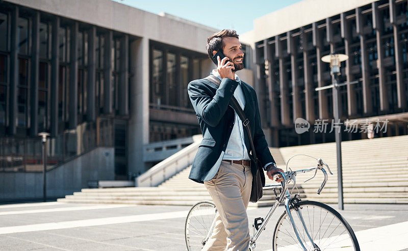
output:
[[[129,115],[129,36],[120,39],[119,115]]]

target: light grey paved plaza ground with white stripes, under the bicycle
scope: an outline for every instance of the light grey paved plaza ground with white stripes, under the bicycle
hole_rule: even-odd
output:
[[[335,209],[337,205],[331,205]],[[64,204],[0,205],[0,250],[186,250],[190,207]],[[269,208],[250,208],[250,223]],[[256,250],[270,250],[274,223]],[[341,214],[361,250],[408,250],[408,205],[345,205]],[[252,231],[251,231],[252,232]]]

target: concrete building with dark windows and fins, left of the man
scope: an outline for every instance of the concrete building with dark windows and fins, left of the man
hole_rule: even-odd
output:
[[[130,179],[163,159],[149,143],[199,134],[187,84],[213,68],[214,32],[110,0],[0,1],[0,200],[42,196],[39,132],[50,197]]]

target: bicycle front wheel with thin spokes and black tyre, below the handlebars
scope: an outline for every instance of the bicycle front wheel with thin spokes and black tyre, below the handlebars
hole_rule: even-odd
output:
[[[333,208],[320,202],[303,201],[294,204],[290,212],[307,250],[360,250],[350,225]],[[275,251],[304,250],[286,211],[276,224],[272,247]]]

